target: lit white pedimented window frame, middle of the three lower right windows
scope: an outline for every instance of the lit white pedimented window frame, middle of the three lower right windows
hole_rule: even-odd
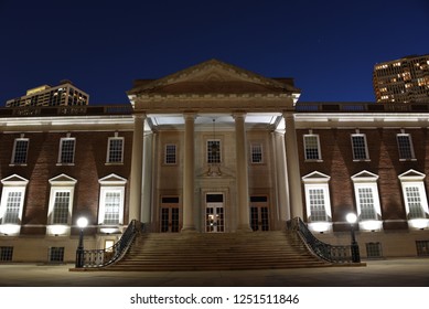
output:
[[[379,203],[379,193],[377,180],[378,175],[366,170],[352,175],[352,181],[354,185],[354,198],[357,210],[357,217],[361,231],[382,231],[383,230],[383,221],[382,219],[382,206]],[[367,189],[371,190],[372,199],[373,199],[373,219],[362,219],[362,203],[360,196],[360,190]]]

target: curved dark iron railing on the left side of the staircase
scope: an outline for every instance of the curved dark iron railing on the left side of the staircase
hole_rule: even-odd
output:
[[[114,246],[105,249],[84,251],[84,268],[105,267],[119,260],[131,246],[136,235],[141,232],[144,232],[144,225],[133,220]]]

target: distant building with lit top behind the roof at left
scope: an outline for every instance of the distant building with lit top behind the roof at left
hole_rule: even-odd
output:
[[[73,106],[88,105],[88,94],[75,87],[69,81],[62,81],[54,87],[43,85],[28,89],[25,96],[9,99],[6,106]]]

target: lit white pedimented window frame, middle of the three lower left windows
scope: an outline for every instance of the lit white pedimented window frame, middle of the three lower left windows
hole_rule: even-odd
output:
[[[69,235],[72,226],[74,192],[77,180],[64,173],[49,180],[51,184],[50,201],[47,206],[47,235]],[[66,223],[54,223],[54,207],[57,192],[68,192],[68,217]]]

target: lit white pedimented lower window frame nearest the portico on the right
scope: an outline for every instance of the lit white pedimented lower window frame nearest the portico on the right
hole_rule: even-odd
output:
[[[331,198],[330,198],[330,189],[329,189],[330,179],[331,177],[318,171],[314,171],[302,178],[302,182],[304,183],[304,193],[305,193],[307,220],[309,222],[309,228],[313,232],[324,233],[324,232],[332,231],[332,209],[331,209]],[[325,221],[311,220],[311,204],[310,204],[311,190],[322,190],[323,192],[324,211],[326,215]]]

